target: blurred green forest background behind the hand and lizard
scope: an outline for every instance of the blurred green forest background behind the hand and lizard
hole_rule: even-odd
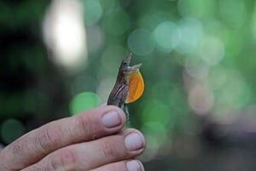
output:
[[[253,0],[2,0],[0,142],[105,103],[131,52],[146,170],[253,171],[255,48]]]

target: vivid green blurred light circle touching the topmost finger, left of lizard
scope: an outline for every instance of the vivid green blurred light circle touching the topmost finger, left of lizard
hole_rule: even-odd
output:
[[[72,115],[78,114],[81,111],[90,109],[101,103],[100,98],[93,92],[84,92],[73,97],[70,103],[70,110]]]

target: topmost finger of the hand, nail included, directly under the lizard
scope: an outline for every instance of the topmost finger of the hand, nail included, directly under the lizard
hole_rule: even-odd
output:
[[[61,147],[119,132],[125,114],[113,105],[63,118],[23,135],[0,152],[0,170],[20,170]]]

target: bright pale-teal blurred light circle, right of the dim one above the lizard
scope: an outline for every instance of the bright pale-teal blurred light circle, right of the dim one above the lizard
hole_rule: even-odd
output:
[[[178,27],[171,21],[160,23],[154,30],[155,43],[164,52],[171,52],[173,48],[176,48],[180,36]]]

